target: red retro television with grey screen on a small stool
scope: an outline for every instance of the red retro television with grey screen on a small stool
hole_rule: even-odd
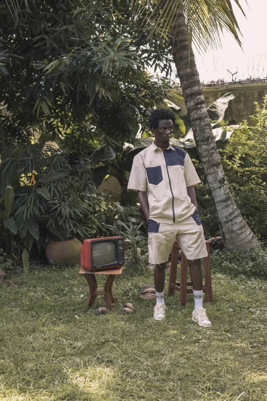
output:
[[[124,264],[123,237],[103,237],[84,240],[81,247],[81,267],[90,270],[120,268]]]

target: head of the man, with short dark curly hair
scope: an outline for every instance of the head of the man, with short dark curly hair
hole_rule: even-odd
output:
[[[155,141],[161,143],[169,143],[174,123],[175,115],[165,109],[153,110],[148,118],[148,126],[155,136]]]

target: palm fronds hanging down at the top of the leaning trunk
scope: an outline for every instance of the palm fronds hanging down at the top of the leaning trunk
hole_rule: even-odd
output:
[[[207,47],[220,46],[220,33],[224,31],[230,32],[241,46],[231,1],[245,15],[239,0],[131,0],[131,10],[136,27],[149,27],[151,34],[166,38],[175,34],[175,19],[182,7],[189,43],[205,51]]]

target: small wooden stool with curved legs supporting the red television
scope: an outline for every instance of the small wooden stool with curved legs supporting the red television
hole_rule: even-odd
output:
[[[111,270],[100,270],[100,271],[88,271],[83,268],[80,269],[79,273],[82,275],[88,283],[90,288],[89,296],[87,299],[86,307],[90,307],[95,302],[97,295],[103,295],[105,298],[106,307],[112,310],[112,304],[114,304],[114,298],[112,294],[112,284],[115,276],[121,275],[123,267],[119,269]],[[103,288],[97,287],[96,275],[108,275],[106,283]]]

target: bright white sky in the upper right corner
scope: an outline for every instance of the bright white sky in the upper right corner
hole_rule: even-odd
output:
[[[205,56],[195,50],[196,65],[201,81],[224,78],[231,81],[247,78],[265,78],[267,76],[267,0],[239,0],[246,17],[235,5],[236,19],[242,34],[242,49],[227,32],[221,36],[221,49],[209,50]],[[152,70],[150,71],[152,72]],[[157,71],[159,73],[159,71]],[[174,78],[174,76],[172,76]]]

